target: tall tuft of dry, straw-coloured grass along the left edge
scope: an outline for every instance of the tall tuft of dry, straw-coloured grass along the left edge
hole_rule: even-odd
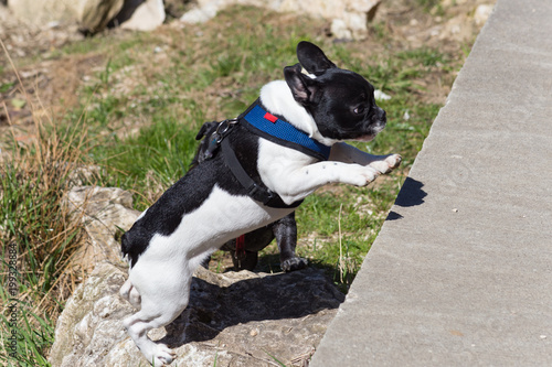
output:
[[[9,154],[3,153],[6,156],[0,165],[3,259],[0,331],[2,338],[17,333],[18,365],[36,366],[41,360],[35,358],[45,354],[53,338],[52,321],[57,319],[83,276],[79,269],[71,266],[71,260],[82,246],[84,231],[79,218],[71,218],[64,207],[63,195],[75,180],[75,168],[82,164],[84,152],[81,148],[86,133],[78,128],[60,131],[47,114],[34,114],[45,109],[40,100],[33,101],[26,95],[28,86],[21,82],[13,64],[11,66],[19,79],[20,93],[33,111],[33,133],[25,143],[13,136]],[[7,110],[4,102],[1,108]],[[10,255],[14,263],[8,262]],[[17,285],[8,288],[13,278]],[[7,355],[13,352],[7,349],[6,339],[2,342],[2,352]],[[0,360],[8,361],[2,355]]]

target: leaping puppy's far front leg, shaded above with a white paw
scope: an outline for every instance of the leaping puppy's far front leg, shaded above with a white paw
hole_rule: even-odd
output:
[[[338,142],[331,147],[329,160],[370,165],[380,173],[389,173],[401,164],[402,156],[399,154],[372,155],[344,142]]]

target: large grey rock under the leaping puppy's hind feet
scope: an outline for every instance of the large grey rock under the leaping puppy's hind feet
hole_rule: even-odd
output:
[[[131,196],[119,188],[75,187],[66,197],[100,251],[87,260],[97,265],[57,321],[49,360],[54,367],[148,366],[123,327],[135,310],[119,295],[127,266],[112,256],[118,253],[116,226],[128,229],[138,215],[128,208]],[[173,366],[277,366],[274,358],[305,366],[343,299],[316,269],[217,274],[199,268],[188,309],[150,336],[174,348]]]

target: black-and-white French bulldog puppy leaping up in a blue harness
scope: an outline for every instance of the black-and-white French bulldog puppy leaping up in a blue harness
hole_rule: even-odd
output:
[[[156,366],[174,355],[148,331],[184,311],[192,273],[214,250],[288,215],[322,185],[365,186],[401,162],[341,142],[372,140],[385,127],[373,86],[311,43],[299,43],[297,57],[300,64],[284,68],[285,80],[268,83],[244,114],[220,123],[212,156],[123,236],[130,270],[120,293],[139,309],[124,324]]]

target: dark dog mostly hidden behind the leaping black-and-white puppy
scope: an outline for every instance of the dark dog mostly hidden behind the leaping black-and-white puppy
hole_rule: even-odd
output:
[[[219,123],[220,122],[216,121],[205,122],[200,128],[200,131],[195,136],[195,140],[201,140],[201,142],[192,159],[190,170],[209,159],[206,155],[209,155],[210,143]],[[295,212],[269,225],[231,239],[221,247],[221,250],[231,253],[235,270],[253,271],[258,262],[258,251],[270,245],[275,238],[279,250],[279,263],[283,271],[299,270],[308,266],[307,259],[299,258],[295,253],[295,248],[297,246],[297,223],[295,222]],[[202,266],[209,269],[210,260],[211,257],[208,257]]]

